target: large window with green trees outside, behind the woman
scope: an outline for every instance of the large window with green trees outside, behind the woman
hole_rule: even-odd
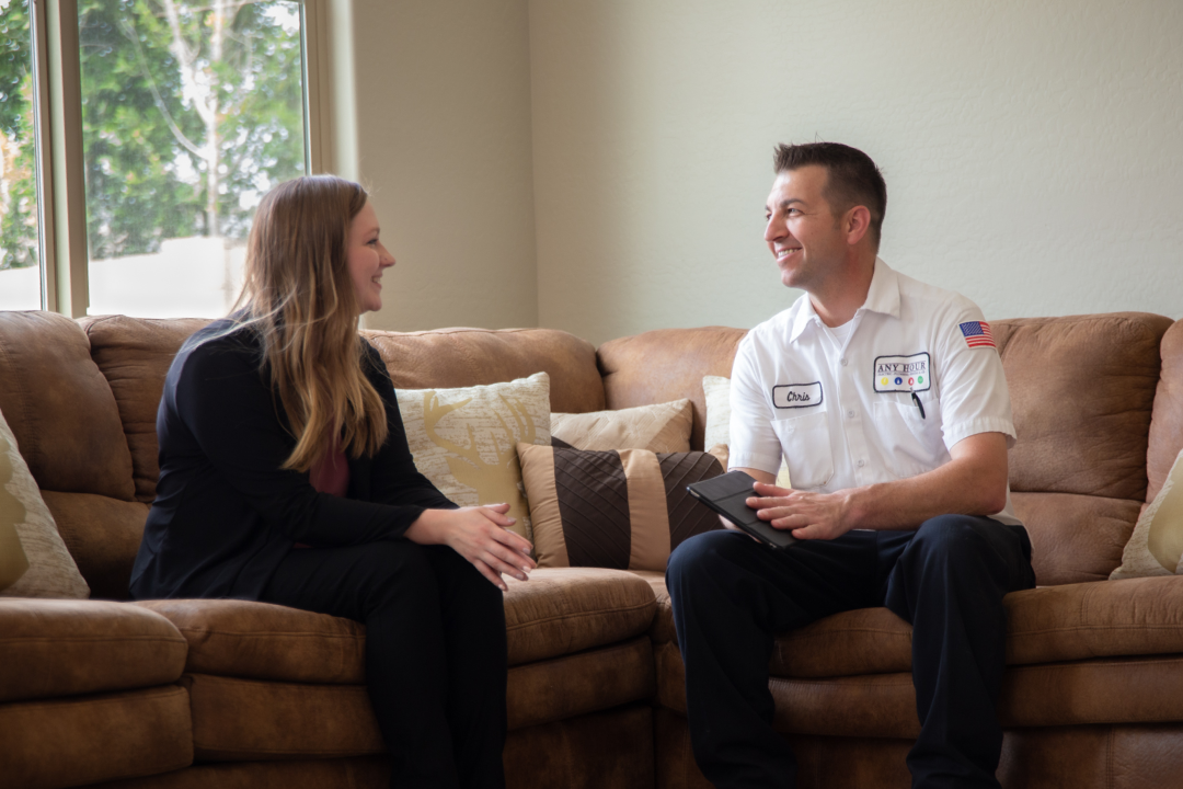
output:
[[[313,0],[5,1],[0,309],[225,315],[260,198],[311,169]]]

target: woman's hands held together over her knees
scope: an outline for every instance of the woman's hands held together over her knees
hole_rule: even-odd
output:
[[[509,504],[424,510],[407,529],[407,539],[420,545],[447,545],[505,591],[503,573],[525,581],[525,574],[535,568],[532,545],[509,530],[516,523],[505,516],[509,510]]]

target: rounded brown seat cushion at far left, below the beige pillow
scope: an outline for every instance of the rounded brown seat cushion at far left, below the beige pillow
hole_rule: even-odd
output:
[[[185,639],[167,619],[134,606],[0,601],[0,701],[175,683],[185,654]]]

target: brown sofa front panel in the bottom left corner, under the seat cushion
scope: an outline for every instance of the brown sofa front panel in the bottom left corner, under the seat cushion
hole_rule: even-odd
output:
[[[5,787],[77,787],[193,762],[189,697],[150,690],[0,704]]]

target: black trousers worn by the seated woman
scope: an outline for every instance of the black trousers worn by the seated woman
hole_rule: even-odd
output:
[[[505,785],[505,608],[459,554],[405,539],[292,550],[263,600],[366,625],[392,787]]]

